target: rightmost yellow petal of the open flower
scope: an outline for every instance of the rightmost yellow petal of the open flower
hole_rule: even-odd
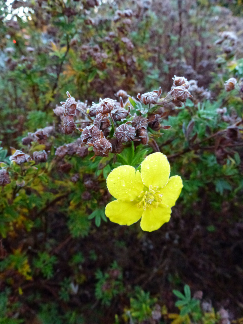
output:
[[[159,193],[162,193],[162,203],[166,204],[169,207],[175,205],[181,189],[183,187],[181,177],[174,176],[169,178],[168,183],[159,190]]]

